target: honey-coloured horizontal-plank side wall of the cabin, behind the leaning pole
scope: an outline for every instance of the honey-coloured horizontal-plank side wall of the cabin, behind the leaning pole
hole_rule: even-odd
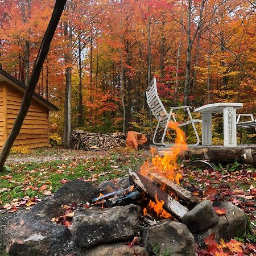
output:
[[[0,86],[1,87],[1,86]],[[6,133],[10,134],[16,116],[18,115],[23,94],[7,85],[6,100]],[[29,148],[49,146],[49,111],[35,100],[24,119],[22,129],[14,142],[14,146],[28,146]],[[1,128],[0,128],[1,129]],[[1,145],[1,144],[0,144]],[[0,147],[1,148],[1,147]]]

